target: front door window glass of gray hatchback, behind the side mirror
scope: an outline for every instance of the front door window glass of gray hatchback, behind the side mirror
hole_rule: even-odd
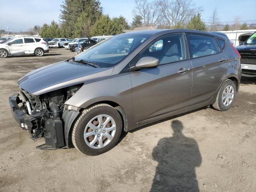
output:
[[[138,59],[146,56],[158,58],[159,65],[185,60],[183,35],[170,35],[153,42]]]

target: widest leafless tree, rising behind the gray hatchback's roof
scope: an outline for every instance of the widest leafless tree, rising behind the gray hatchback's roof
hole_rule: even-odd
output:
[[[184,25],[196,13],[202,12],[193,0],[159,0],[160,12],[169,27]]]

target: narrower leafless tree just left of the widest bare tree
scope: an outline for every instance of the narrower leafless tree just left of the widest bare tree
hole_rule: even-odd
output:
[[[156,26],[161,18],[158,1],[135,0],[134,15],[142,16],[145,26]]]

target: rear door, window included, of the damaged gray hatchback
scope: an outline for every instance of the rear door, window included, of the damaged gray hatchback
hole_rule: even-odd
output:
[[[212,98],[226,77],[229,60],[214,36],[188,33],[187,37],[193,65],[190,105],[194,105]]]

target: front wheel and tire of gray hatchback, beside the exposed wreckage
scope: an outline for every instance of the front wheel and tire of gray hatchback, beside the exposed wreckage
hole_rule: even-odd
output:
[[[72,142],[83,154],[94,156],[112,149],[122,132],[118,111],[108,104],[97,104],[82,111],[72,131]]]

